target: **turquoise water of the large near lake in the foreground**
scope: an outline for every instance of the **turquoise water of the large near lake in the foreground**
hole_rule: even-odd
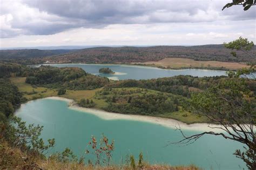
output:
[[[91,135],[97,139],[104,133],[115,141],[113,162],[125,163],[125,155],[133,154],[136,158],[143,152],[146,161],[171,165],[195,164],[205,169],[240,169],[244,163],[232,153],[241,148],[238,142],[221,137],[205,135],[191,145],[170,145],[167,141],[178,141],[181,134],[172,128],[161,125],[131,121],[104,120],[96,115],[71,110],[66,101],[38,99],[29,101],[16,111],[28,124],[44,126],[42,138],[56,139],[53,151],[63,151],[69,147],[80,156],[84,153]],[[195,134],[196,131],[184,131]],[[85,155],[85,159],[91,158]]]

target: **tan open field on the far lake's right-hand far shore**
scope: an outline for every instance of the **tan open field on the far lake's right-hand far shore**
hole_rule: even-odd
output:
[[[158,62],[144,62],[144,63],[132,63],[132,64],[145,64],[162,66],[169,69],[181,69],[181,68],[221,68],[227,70],[241,69],[242,67],[249,67],[243,63],[231,63],[231,62],[217,62],[217,61],[196,61],[187,58],[164,58]]]

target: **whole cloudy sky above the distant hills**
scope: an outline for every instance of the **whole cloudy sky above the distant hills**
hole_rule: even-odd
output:
[[[0,0],[0,47],[256,42],[256,6],[232,0]]]

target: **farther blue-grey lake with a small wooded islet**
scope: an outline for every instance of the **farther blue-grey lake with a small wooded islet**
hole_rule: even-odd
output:
[[[49,65],[49,64],[46,64]],[[201,70],[201,69],[183,69],[183,70],[167,70],[149,66],[134,65],[105,65],[105,64],[50,64],[57,67],[80,67],[88,73],[108,77],[112,80],[124,79],[151,79],[160,77],[173,77],[178,75],[191,76],[225,76],[226,71],[221,70]],[[99,73],[99,69],[109,67],[116,74]]]

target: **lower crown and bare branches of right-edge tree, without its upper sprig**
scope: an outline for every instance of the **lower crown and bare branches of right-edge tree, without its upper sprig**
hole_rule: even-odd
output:
[[[228,89],[226,89],[228,87]],[[204,134],[221,135],[226,139],[235,140],[247,145],[246,153],[238,149],[237,157],[244,160],[247,167],[256,167],[256,143],[253,126],[256,124],[256,107],[254,94],[248,90],[242,78],[230,79],[207,90],[193,95],[190,100],[191,106],[201,115],[206,115],[212,123],[222,125],[219,128],[226,132],[204,132],[192,137],[186,137],[186,142],[196,140]],[[245,154],[248,158],[245,157]]]

